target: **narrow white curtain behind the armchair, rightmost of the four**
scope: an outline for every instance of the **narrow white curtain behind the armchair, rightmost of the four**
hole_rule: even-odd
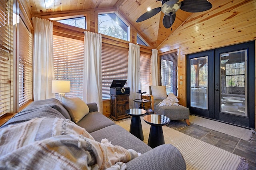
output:
[[[152,77],[152,85],[158,85],[158,50],[152,49],[152,57],[151,57],[151,77]]]

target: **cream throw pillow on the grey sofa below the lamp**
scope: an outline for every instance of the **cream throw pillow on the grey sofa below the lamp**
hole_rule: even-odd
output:
[[[79,97],[63,97],[62,105],[68,110],[74,123],[78,123],[89,113],[89,107]]]

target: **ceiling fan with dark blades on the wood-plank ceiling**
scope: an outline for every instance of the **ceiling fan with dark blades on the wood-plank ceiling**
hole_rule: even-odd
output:
[[[176,12],[178,9],[184,10],[186,12],[203,12],[210,10],[212,4],[208,0],[158,0],[162,1],[162,6],[154,8],[148,12],[145,12],[136,20],[136,22],[142,22],[151,18],[152,16],[158,14],[162,11],[165,15],[163,18],[163,24],[165,28],[170,28],[175,21]]]

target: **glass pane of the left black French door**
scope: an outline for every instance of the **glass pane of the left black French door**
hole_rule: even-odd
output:
[[[190,106],[208,109],[208,56],[190,59]]]

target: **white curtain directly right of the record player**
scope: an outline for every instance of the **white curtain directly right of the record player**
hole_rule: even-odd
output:
[[[129,108],[138,108],[138,103],[134,105],[134,99],[140,99],[138,92],[140,83],[140,45],[129,43],[128,52],[128,80],[130,87]]]

